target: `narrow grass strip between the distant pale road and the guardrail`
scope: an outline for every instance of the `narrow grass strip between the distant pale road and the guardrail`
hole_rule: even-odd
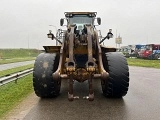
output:
[[[10,75],[15,72],[20,72],[20,71],[23,71],[23,70],[26,70],[29,68],[33,68],[33,64],[29,64],[29,65],[25,65],[25,66],[21,66],[21,67],[16,67],[16,68],[8,69],[8,70],[3,70],[3,71],[0,71],[0,77],[7,76],[7,75]]]

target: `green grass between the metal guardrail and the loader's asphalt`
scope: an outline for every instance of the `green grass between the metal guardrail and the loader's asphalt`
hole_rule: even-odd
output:
[[[0,119],[33,92],[32,74],[0,87]]]

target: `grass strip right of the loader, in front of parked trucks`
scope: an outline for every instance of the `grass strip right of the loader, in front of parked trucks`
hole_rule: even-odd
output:
[[[150,67],[160,69],[160,60],[145,60],[145,59],[134,59],[127,58],[129,66],[139,66],[139,67]]]

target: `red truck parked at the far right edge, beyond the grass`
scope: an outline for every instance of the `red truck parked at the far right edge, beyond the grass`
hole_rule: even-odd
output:
[[[139,52],[139,57],[144,59],[154,59],[153,53],[155,53],[156,50],[160,50],[160,44],[147,44]]]

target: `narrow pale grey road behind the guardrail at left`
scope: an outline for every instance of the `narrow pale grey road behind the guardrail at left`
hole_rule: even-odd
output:
[[[24,62],[16,62],[16,63],[9,63],[9,64],[2,64],[0,65],[0,71],[15,68],[15,67],[20,67],[28,64],[33,64],[34,60],[32,61],[24,61]]]

